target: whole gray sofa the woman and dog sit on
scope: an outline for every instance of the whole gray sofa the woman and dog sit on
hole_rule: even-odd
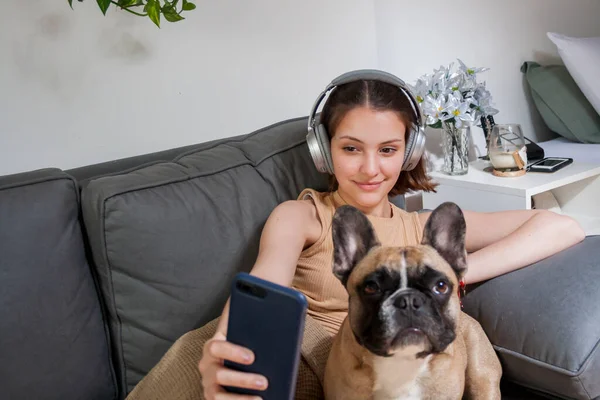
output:
[[[327,187],[305,133],[297,118],[0,177],[0,398],[124,398],[179,336],[219,314],[270,211]],[[501,358],[505,398],[600,399],[599,256],[589,237],[467,295]]]

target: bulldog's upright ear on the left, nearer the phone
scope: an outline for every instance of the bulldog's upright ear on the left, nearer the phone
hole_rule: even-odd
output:
[[[346,286],[352,269],[379,241],[367,217],[349,205],[335,211],[331,229],[333,274]]]

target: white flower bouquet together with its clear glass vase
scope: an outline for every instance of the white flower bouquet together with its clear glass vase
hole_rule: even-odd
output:
[[[412,86],[425,124],[444,132],[444,166],[450,175],[468,172],[470,127],[481,117],[495,115],[491,93],[485,82],[477,82],[477,74],[489,68],[470,68],[461,60],[441,66],[432,74],[423,75]]]

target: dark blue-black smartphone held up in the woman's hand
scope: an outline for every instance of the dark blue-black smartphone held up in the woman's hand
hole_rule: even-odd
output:
[[[266,390],[225,387],[263,400],[292,400],[304,336],[306,297],[289,287],[239,273],[231,286],[227,340],[254,352],[254,363],[225,361],[225,366],[265,376]]]

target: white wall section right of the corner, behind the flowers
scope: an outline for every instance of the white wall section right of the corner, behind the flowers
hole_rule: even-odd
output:
[[[374,0],[379,66],[409,83],[440,65],[460,58],[469,66],[489,67],[487,81],[496,123],[520,123],[525,136],[548,140],[548,131],[532,107],[520,72],[524,61],[562,64],[548,31],[600,36],[600,0]],[[428,131],[428,149],[439,143]],[[481,129],[474,129],[478,151],[485,151]],[[431,139],[431,140],[430,140]],[[479,153],[481,155],[481,153]]]

